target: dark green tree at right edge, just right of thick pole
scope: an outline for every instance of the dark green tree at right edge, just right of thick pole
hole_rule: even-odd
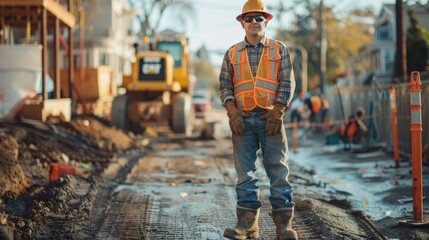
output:
[[[414,12],[408,11],[410,27],[407,29],[407,66],[408,73],[424,71],[429,59],[428,31],[420,26]]]

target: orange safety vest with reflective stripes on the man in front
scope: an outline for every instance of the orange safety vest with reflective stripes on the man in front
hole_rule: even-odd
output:
[[[272,109],[276,99],[279,80],[277,78],[281,56],[280,43],[266,39],[256,76],[250,68],[245,42],[234,45],[229,51],[229,59],[234,69],[234,96],[237,107],[252,110],[255,107]]]

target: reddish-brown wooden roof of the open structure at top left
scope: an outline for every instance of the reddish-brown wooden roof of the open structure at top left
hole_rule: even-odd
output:
[[[0,16],[11,26],[23,27],[28,21],[39,21],[40,9],[45,8],[48,17],[58,18],[63,24],[73,28],[75,17],[55,0],[0,0]]]

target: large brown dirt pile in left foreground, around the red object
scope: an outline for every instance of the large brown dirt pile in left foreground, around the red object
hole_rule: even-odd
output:
[[[72,239],[88,227],[100,187],[94,177],[136,149],[136,142],[134,135],[90,115],[69,122],[0,122],[0,239]],[[53,163],[74,168],[76,176],[49,182]],[[80,225],[67,229],[66,219]]]

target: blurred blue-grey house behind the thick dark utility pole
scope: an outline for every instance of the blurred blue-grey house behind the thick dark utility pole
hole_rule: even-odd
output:
[[[410,26],[408,10],[412,9],[421,27],[429,29],[429,3],[426,5],[404,4],[405,31]],[[359,56],[350,61],[350,82],[364,85],[375,78],[378,83],[393,82],[396,52],[395,4],[384,4],[375,23],[372,43],[360,48]],[[353,84],[352,84],[353,85]]]

